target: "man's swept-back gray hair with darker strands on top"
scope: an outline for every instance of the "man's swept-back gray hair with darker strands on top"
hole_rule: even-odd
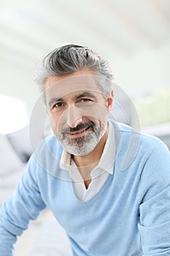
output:
[[[36,83],[41,91],[50,76],[71,75],[82,69],[90,69],[99,78],[99,86],[104,95],[112,90],[112,70],[107,59],[101,58],[90,48],[80,45],[63,45],[45,56]]]

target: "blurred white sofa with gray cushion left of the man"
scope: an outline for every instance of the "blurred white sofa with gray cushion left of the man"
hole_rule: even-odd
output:
[[[42,135],[38,137],[40,142]],[[0,206],[17,186],[31,154],[28,126],[7,135],[0,134]]]

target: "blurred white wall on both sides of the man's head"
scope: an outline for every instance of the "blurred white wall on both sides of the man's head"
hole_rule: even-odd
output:
[[[107,59],[112,64],[115,82],[130,96],[136,97],[155,89],[170,88],[170,43],[155,50],[143,50],[136,53],[136,56],[114,59],[110,54]],[[4,58],[0,63],[0,93],[23,99],[29,113],[39,97],[39,90],[34,83],[38,63],[39,60],[32,61],[31,64],[24,60],[22,63],[17,57]]]

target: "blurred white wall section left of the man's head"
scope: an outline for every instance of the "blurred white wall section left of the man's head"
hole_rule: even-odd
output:
[[[28,113],[39,97],[39,90],[37,89],[35,79],[35,63],[31,66],[18,64],[16,59],[9,59],[1,61],[1,83],[0,94],[7,94],[26,102]],[[10,102],[7,102],[10,104]]]

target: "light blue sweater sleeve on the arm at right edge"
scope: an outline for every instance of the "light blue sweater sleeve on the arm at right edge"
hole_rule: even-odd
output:
[[[141,176],[139,232],[144,256],[170,255],[170,154],[158,143]]]

